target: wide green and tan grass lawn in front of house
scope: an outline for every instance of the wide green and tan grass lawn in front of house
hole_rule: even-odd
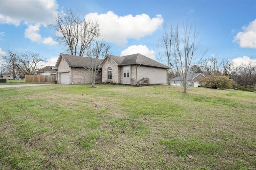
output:
[[[0,89],[0,169],[256,169],[256,93]]]

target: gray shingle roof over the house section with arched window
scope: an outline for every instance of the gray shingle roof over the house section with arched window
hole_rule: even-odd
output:
[[[151,67],[158,67],[158,68],[164,68],[164,69],[170,69],[170,67],[167,67],[164,64],[161,64],[153,59],[150,59],[144,55],[141,55],[140,53],[132,54],[132,55],[126,55],[122,57],[118,57],[115,55],[108,55],[111,59],[113,59],[118,65],[145,65],[145,66],[151,66]]]

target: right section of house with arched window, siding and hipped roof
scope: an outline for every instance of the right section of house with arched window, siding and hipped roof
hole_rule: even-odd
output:
[[[136,85],[142,78],[149,78],[149,84],[167,85],[167,70],[170,69],[141,54],[122,57],[106,55],[99,67],[102,68],[102,82]]]

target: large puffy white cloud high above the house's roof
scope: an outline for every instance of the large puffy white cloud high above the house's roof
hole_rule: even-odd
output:
[[[106,14],[90,13],[85,18],[98,21],[104,40],[117,45],[125,45],[128,38],[139,40],[150,35],[164,22],[161,15],[156,15],[155,18],[150,18],[147,14],[118,16],[112,11]]]

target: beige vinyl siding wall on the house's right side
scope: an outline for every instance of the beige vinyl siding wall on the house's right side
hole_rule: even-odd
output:
[[[138,66],[137,81],[139,81],[143,77],[148,77],[150,79],[150,84],[167,85],[167,69]]]

